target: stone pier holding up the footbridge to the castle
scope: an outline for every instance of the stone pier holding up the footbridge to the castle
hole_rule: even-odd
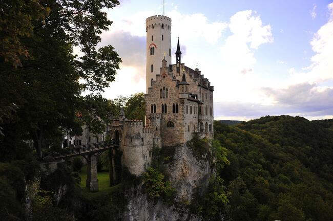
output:
[[[90,190],[90,192],[98,191],[98,180],[97,180],[97,154],[92,153],[88,155],[87,160],[87,181],[86,187]]]

